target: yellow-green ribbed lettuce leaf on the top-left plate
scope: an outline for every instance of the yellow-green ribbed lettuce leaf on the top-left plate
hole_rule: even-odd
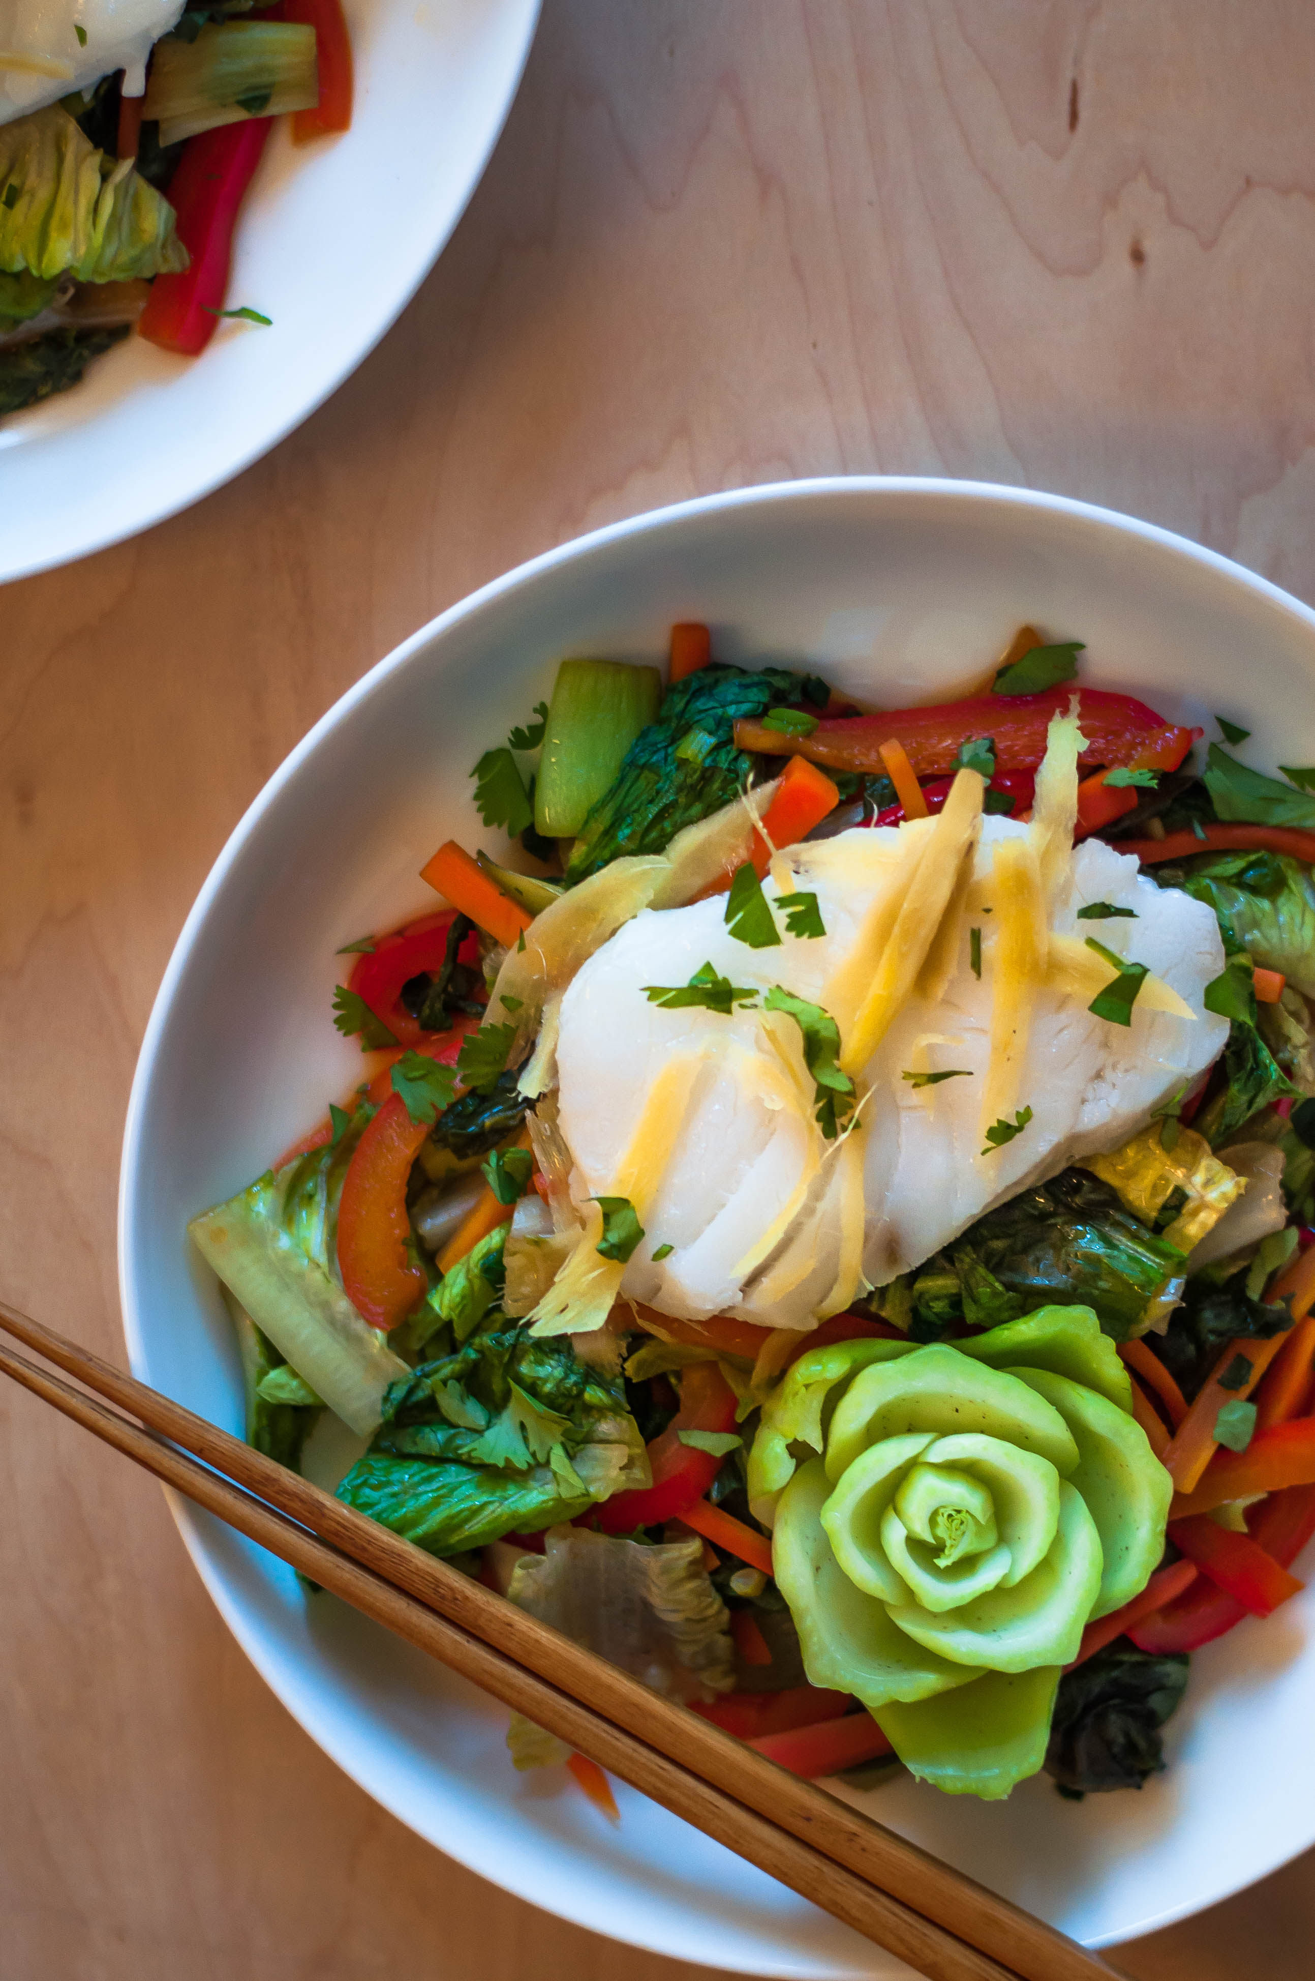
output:
[[[55,103],[0,125],[0,269],[10,275],[133,281],[188,265],[168,200],[129,158],[97,151]]]

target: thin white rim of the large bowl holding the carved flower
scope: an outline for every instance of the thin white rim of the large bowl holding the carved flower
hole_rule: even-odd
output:
[[[555,545],[537,557],[513,567],[487,584],[481,584],[475,592],[459,598],[455,604],[448,606],[444,612],[436,614],[414,634],[402,640],[390,654],[378,660],[366,674],[360,676],[349,689],[329,709],[313,723],[313,727],[301,737],[299,743],[287,753],[281,765],[271,773],[265,784],[259,788],[255,798],[250,802],[228,840],[224,842],[220,854],[214,860],[202,887],[178,931],[178,939],[164,967],[154,1002],[151,1006],[151,1016],[143,1032],[143,1042],[137,1058],[137,1068],[133,1074],[133,1086],[127,1103],[125,1129],[123,1129],[123,1149],[119,1167],[119,1206],[117,1206],[117,1252],[119,1252],[119,1300],[123,1315],[125,1345],[129,1351],[129,1363],[139,1371],[145,1363],[145,1333],[141,1325],[139,1307],[139,1284],[137,1284],[137,1262],[131,1252],[131,1226],[135,1216],[135,1183],[143,1153],[143,1139],[147,1133],[147,1097],[152,1084],[154,1060],[160,1050],[160,1042],[170,1020],[174,994],[178,990],[180,979],[188,967],[192,947],[204,927],[216,895],[228,882],[228,876],[242,856],[248,840],[259,828],[265,812],[277,802],[285,786],[301,773],[303,765],[317,753],[321,743],[331,737],[343,723],[347,723],[353,713],[368,701],[374,693],[382,689],[398,672],[408,668],[414,656],[430,648],[436,640],[444,638],[455,626],[475,618],[487,606],[511,596],[513,592],[535,584],[543,574],[558,571],[574,561],[588,561],[596,551],[606,549],[626,537],[640,535],[661,535],[665,529],[679,527],[695,517],[721,515],[735,509],[747,507],[768,507],[776,503],[814,503],[828,499],[842,499],[854,495],[873,495],[873,497],[899,497],[899,499],[925,499],[927,503],[964,503],[980,505],[988,503],[994,509],[1016,509],[1016,511],[1036,511],[1042,515],[1063,515],[1071,517],[1075,523],[1089,525],[1095,531],[1109,531],[1113,535],[1141,541],[1145,545],[1168,551],[1172,555],[1184,557],[1198,567],[1240,584],[1244,590],[1252,592],[1258,600],[1275,606],[1289,620],[1309,634],[1315,634],[1315,608],[1303,604],[1291,592],[1273,584],[1269,578],[1248,571],[1234,559],[1220,551],[1212,551],[1204,545],[1192,543],[1188,537],[1176,531],[1164,529],[1159,523],[1149,523],[1139,517],[1125,515],[1117,509],[1107,509],[1097,503],[1087,503],[1069,495],[1052,495],[1040,489],[1010,487],[1006,483],[994,481],[959,481],[947,475],[816,475],[798,481],[768,481],[749,487],[721,489],[711,495],[695,495],[679,503],[667,503],[658,509],[646,509],[632,517],[622,517],[614,523],[606,523],[600,529],[588,531],[582,537],[572,537],[566,543]],[[222,1569],[210,1559],[206,1545],[206,1521],[208,1515],[194,1510],[170,1488],[164,1488],[164,1498],[168,1502],[174,1523],[180,1531],[182,1543],[192,1557],[192,1563],[210,1593],[216,1609],[220,1611],[224,1622],[238,1638],[238,1644],[252,1660],[265,1684],[271,1686],[279,1704],[291,1714],[291,1718],[311,1735],[311,1739],[329,1753],[337,1767],[347,1773],[356,1787],[364,1789],[372,1801],[378,1797],[368,1781],[362,1779],[360,1771],[345,1759],[335,1745],[325,1739],[325,1733],[309,1723],[309,1716],[303,1716],[297,1706],[283,1698],[281,1688],[273,1678],[275,1658],[257,1640],[255,1632],[248,1628],[246,1620],[238,1613],[236,1601],[224,1581]],[[386,1805],[380,1805],[386,1807]],[[398,1821],[406,1821],[400,1817]],[[1248,1884],[1258,1882],[1260,1876],[1269,1876],[1283,1864],[1301,1856],[1315,1842],[1315,1825],[1309,1836],[1297,1836],[1283,1856],[1275,1858],[1267,1872],[1256,1876],[1236,1876],[1226,1882],[1208,1900],[1192,1902],[1184,1900],[1176,1906],[1164,1906],[1163,1912],[1141,1920],[1127,1933],[1101,1933],[1093,1935],[1085,1943],[1089,1947],[1109,1947],[1121,1945],[1131,1939],[1139,1939],[1147,1933],[1161,1931],[1166,1926],[1174,1926],[1180,1920],[1192,1918],[1210,1906],[1222,1904],[1224,1900],[1236,1896]],[[594,1904],[582,1902],[584,1894],[574,1894],[574,1904],[564,1910],[560,1904],[560,1888],[551,1886],[549,1880],[513,1882],[503,1874],[503,1860],[495,1854],[461,1854],[459,1862],[473,1870],[477,1876],[487,1878],[501,1890],[513,1892],[517,1898],[525,1898],[529,1904],[539,1904],[543,1910],[553,1912],[558,1918],[566,1918],[590,1931],[598,1931],[608,1939],[622,1939],[618,1931],[616,1916],[606,1922],[600,1918]],[[533,1884],[533,1890],[527,1888]],[[622,1943],[648,1947],[648,1939],[624,1939]],[[697,1951],[673,1951],[667,1947],[654,1949],[663,1951],[673,1959],[697,1961]],[[747,1971],[747,1969],[745,1969]],[[778,1967],[764,1967],[755,1961],[755,1973],[780,1973],[794,1975],[798,1969],[788,1961]],[[858,1969],[856,1969],[858,1971]]]

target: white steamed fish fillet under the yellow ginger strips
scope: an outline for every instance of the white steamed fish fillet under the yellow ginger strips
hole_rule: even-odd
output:
[[[990,1064],[994,957],[990,915],[964,915],[945,994],[913,994],[861,1074],[861,1125],[826,1141],[814,1121],[814,1082],[794,1020],[768,1016],[760,992],[782,985],[820,1004],[842,1040],[871,975],[863,929],[907,886],[909,856],[931,822],[842,832],[794,846],[764,884],[768,901],[816,891],[826,935],[794,937],[784,915],[778,947],[749,949],[725,927],[725,895],[644,911],[580,969],[560,1008],[558,1109],[574,1159],[572,1197],[608,1195],[661,1066],[695,1054],[699,1072],[669,1159],[642,1175],[636,1208],[644,1240],[622,1292],[683,1317],[735,1313],[764,1327],[808,1329],[860,1290],[919,1266],[992,1204],[1058,1175],[1083,1155],[1127,1141],[1220,1054],[1228,1022],[1202,1008],[1224,969],[1212,909],[1143,880],[1137,860],[1103,842],[1073,852],[1069,886],[1050,915],[1062,935],[1089,935],[1163,977],[1194,1020],[1133,1006],[1131,1026],[1095,1018],[1083,998],[1042,985],[1018,1103],[1032,1107],[1020,1135],[982,1155],[982,1090]],[[1026,826],[986,818],[974,897],[990,899],[998,840]],[[1137,919],[1077,921],[1109,901]],[[982,975],[970,967],[970,927],[984,931]],[[729,1016],[652,1004],[648,985],[685,985],[711,963],[757,1008]],[[905,1072],[957,1078],[915,1088]],[[846,1234],[850,1244],[846,1244]],[[663,1260],[654,1252],[671,1246]]]

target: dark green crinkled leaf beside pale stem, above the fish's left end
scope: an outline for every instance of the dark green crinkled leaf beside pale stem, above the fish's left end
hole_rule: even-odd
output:
[[[800,676],[784,668],[751,674],[717,662],[669,687],[658,721],[636,737],[616,781],[590,808],[566,880],[584,880],[622,854],[665,852],[681,826],[731,804],[755,771],[755,759],[735,747],[735,723],[806,699]],[[699,761],[677,755],[691,729],[709,739]]]

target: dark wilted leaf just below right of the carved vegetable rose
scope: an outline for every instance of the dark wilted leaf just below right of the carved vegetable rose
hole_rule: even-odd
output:
[[[1182,1704],[1188,1656],[1153,1656],[1125,1636],[1060,1680],[1046,1773],[1062,1795],[1141,1789],[1164,1767],[1161,1727]]]

